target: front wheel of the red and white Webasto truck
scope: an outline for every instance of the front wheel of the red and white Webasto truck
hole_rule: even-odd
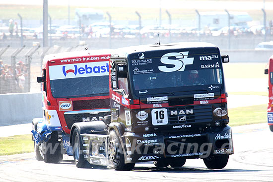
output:
[[[40,153],[46,163],[58,163],[60,161],[61,143],[58,141],[58,131],[51,133],[51,138],[39,146]]]

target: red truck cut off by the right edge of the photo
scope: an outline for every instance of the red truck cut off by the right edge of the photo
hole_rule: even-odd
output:
[[[270,130],[273,132],[273,56],[270,57],[269,62],[267,64],[267,68],[265,69],[265,74],[268,74],[268,124]]]

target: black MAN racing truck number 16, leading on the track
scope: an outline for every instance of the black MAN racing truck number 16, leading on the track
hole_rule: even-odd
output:
[[[114,50],[111,118],[81,134],[80,161],[131,170],[137,162],[181,167],[203,158],[208,168],[224,168],[233,143],[222,62],[228,56],[208,43]]]

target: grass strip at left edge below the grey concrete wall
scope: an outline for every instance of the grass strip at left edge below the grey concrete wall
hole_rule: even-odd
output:
[[[0,138],[0,155],[34,152],[32,135],[15,135]]]

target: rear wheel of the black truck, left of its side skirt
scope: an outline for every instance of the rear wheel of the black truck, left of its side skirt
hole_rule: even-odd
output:
[[[91,164],[84,160],[82,154],[82,140],[77,128],[73,131],[73,157],[77,168],[91,168]]]

